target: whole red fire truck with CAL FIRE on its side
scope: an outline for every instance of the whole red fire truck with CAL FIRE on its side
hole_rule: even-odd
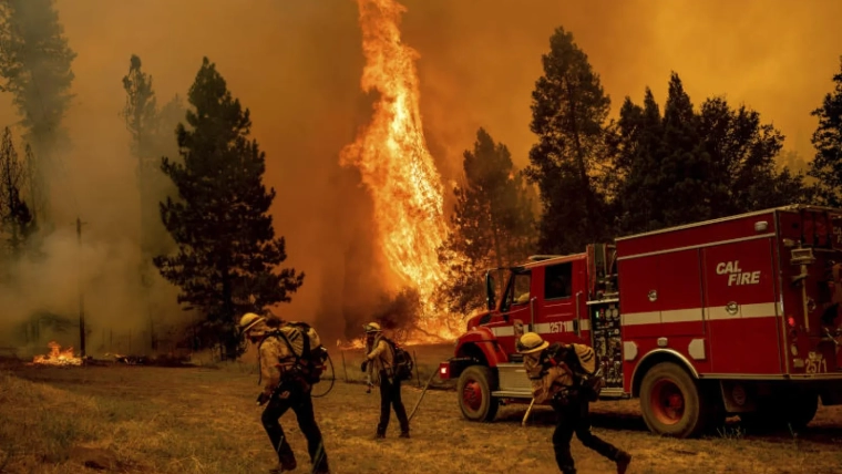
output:
[[[594,348],[603,398],[639,398],[658,434],[694,436],[739,414],[807,425],[842,404],[842,209],[793,205],[617,238],[486,274],[489,310],[455,357],[464,418],[528,402],[515,340]]]

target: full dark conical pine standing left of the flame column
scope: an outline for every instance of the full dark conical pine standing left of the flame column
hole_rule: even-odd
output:
[[[183,164],[164,158],[162,171],[175,184],[178,199],[161,205],[164,226],[178,245],[154,262],[181,288],[178,301],[199,309],[206,327],[236,357],[236,320],[290,301],[304,282],[292,268],[274,272],[286,260],[284,237],[276,238],[268,215],[275,189],[266,190],[266,156],[248,138],[249,111],[232,96],[216,65],[203,60],[189,89],[194,107],[189,130],[178,124]]]

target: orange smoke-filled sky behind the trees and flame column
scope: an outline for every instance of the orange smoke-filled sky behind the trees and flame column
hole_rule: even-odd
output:
[[[404,40],[421,54],[421,109],[440,169],[452,176],[479,126],[526,164],[531,91],[557,25],[588,54],[616,109],[650,85],[663,104],[675,70],[695,104],[727,94],[773,121],[787,148],[812,156],[809,112],[831,90],[842,54],[836,0],[407,0]],[[276,229],[288,265],[305,270],[292,307],[308,318],[330,295],[342,265],[335,217],[349,212],[337,192],[338,152],[367,120],[352,0],[59,0],[76,94],[66,158],[78,210],[125,223],[134,197],[127,134],[117,112],[131,54],[152,73],[160,101],[184,94],[202,56],[216,62],[251,110],[267,152],[266,182],[278,199]],[[13,120],[7,107],[0,118]],[[290,205],[291,199],[300,204]],[[331,282],[333,281],[333,282]],[[364,290],[364,289],[361,289]]]

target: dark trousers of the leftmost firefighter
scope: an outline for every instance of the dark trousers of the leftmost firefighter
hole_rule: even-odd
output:
[[[281,398],[284,396],[284,392],[288,392],[289,395]],[[269,435],[275,452],[278,453],[278,461],[287,464],[295,460],[292,449],[289,447],[284,429],[280,426],[280,418],[287,410],[292,409],[298,421],[298,427],[307,439],[307,451],[310,454],[310,462],[315,466],[315,472],[328,472],[328,455],[325,452],[321,431],[318,424],[316,424],[310,392],[305,391],[300,383],[284,382],[284,387],[277,390],[276,393],[266,405],[260,420],[263,421],[266,434]]]

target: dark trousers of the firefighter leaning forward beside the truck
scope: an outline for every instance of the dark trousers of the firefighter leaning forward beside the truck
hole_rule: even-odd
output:
[[[555,432],[553,432],[553,450],[555,451],[555,462],[562,473],[576,473],[571,455],[573,433],[576,433],[576,437],[586,447],[612,461],[617,461],[622,451],[591,432],[591,409],[587,400],[571,400],[567,404],[553,404],[553,408],[557,416],[557,424]]]

